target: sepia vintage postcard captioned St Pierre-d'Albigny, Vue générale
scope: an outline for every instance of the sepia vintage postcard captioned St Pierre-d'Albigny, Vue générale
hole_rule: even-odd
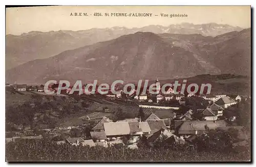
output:
[[[6,8],[6,161],[251,161],[250,6]]]

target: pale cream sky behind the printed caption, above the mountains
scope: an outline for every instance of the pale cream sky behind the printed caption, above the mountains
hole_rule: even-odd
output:
[[[70,16],[75,12],[89,16]],[[94,13],[152,13],[152,17],[94,16]],[[6,34],[20,35],[31,31],[88,30],[125,26],[220,23],[250,27],[250,6],[52,6],[6,9]],[[92,16],[91,16],[92,14]],[[161,17],[168,14],[168,17]],[[170,18],[170,14],[187,17]],[[155,16],[158,15],[158,16]]]

